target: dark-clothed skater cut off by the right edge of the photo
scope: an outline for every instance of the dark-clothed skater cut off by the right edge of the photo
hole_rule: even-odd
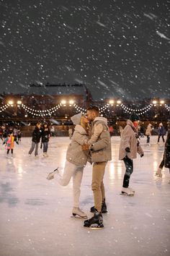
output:
[[[166,137],[163,159],[162,159],[160,165],[158,166],[158,170],[156,171],[156,176],[159,176],[159,177],[162,176],[161,171],[164,166],[166,168],[169,168],[169,173],[170,173],[170,129],[169,129],[168,135]],[[170,181],[169,181],[169,183],[170,183]]]

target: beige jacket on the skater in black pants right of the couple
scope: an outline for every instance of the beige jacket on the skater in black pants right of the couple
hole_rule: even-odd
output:
[[[120,140],[120,150],[119,150],[119,160],[125,158],[128,155],[128,158],[133,159],[137,158],[137,153],[140,155],[143,154],[143,150],[139,145],[137,131],[133,125],[133,122],[128,119],[125,129],[123,129],[122,137]],[[130,148],[130,153],[125,151],[125,148]]]

